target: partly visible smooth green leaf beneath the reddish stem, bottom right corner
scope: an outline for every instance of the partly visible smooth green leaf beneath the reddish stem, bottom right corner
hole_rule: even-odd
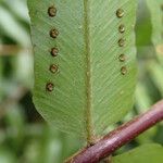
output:
[[[156,143],[143,145],[113,158],[113,163],[161,163],[162,161],[163,148]]]

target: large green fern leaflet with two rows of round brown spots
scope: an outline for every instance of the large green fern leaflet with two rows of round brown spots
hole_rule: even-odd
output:
[[[88,141],[131,109],[136,85],[136,1],[29,0],[35,52],[34,102],[54,127]],[[57,8],[50,17],[48,8]],[[116,16],[124,10],[122,18]],[[125,33],[118,26],[125,26]],[[57,29],[53,39],[49,33]],[[120,47],[118,40],[125,39]],[[52,57],[51,48],[59,54]],[[124,53],[125,62],[118,57]],[[59,67],[51,73],[49,66]],[[123,68],[123,73],[121,68]],[[125,72],[125,67],[127,72]],[[46,90],[48,83],[53,91]]]

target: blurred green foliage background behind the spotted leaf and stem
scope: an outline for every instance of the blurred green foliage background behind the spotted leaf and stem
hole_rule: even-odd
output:
[[[163,62],[155,54],[151,34],[150,13],[145,0],[139,0],[136,102],[120,124],[145,112],[163,97]],[[26,0],[0,0],[0,163],[62,163],[83,145],[75,136],[50,127],[35,110],[33,63]],[[162,124],[115,154],[148,142],[163,145]]]

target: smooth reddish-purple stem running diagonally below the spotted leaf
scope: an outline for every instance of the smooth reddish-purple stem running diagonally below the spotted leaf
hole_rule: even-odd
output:
[[[104,136],[95,146],[85,148],[66,162],[98,163],[161,121],[163,121],[163,100],[154,104],[147,113],[120,126],[117,129]]]

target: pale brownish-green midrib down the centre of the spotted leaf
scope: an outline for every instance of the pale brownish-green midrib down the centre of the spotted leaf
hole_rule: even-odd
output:
[[[87,143],[93,143],[93,128],[91,116],[91,65],[90,65],[90,8],[88,0],[84,0],[84,28],[85,28],[85,45],[86,45],[86,133]]]

